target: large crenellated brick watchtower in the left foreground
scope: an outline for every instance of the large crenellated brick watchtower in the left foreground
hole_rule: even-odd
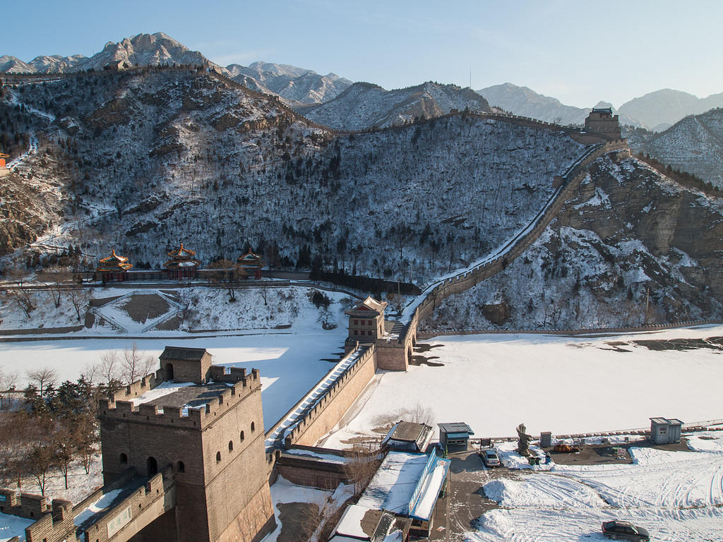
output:
[[[275,527],[259,371],[166,347],[161,369],[100,402],[103,482],[172,471],[176,507],[138,542],[259,541]]]

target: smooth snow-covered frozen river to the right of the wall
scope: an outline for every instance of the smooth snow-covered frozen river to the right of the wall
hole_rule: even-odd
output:
[[[380,372],[323,442],[398,421],[418,406],[433,422],[465,421],[476,436],[612,431],[649,427],[651,416],[686,423],[723,418],[722,350],[649,350],[629,340],[722,335],[722,327],[636,335],[462,335],[424,341],[443,366]],[[617,343],[610,345],[609,343]],[[620,345],[625,343],[625,345]],[[625,351],[620,351],[625,350]]]

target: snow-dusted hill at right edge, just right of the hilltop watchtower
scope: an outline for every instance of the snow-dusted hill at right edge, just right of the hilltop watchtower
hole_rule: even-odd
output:
[[[723,188],[723,108],[687,116],[634,150]]]

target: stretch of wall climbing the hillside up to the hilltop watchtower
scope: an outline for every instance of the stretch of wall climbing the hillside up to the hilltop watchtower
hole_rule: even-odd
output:
[[[606,142],[594,150],[589,151],[583,156],[581,160],[578,160],[564,175],[556,178],[556,181],[560,183],[560,188],[552,194],[549,199],[547,206],[545,207],[542,215],[538,215],[534,218],[536,220],[534,227],[518,237],[513,241],[513,246],[505,252],[489,262],[475,267],[473,270],[463,272],[456,277],[445,280],[445,282],[437,285],[427,295],[427,298],[419,304],[419,307],[414,311],[412,321],[417,319],[417,322],[424,320],[432,314],[437,304],[444,299],[452,296],[455,293],[460,293],[469,290],[474,285],[487,280],[496,275],[498,272],[505,269],[516,257],[520,256],[544,231],[545,228],[555,218],[557,212],[560,212],[562,205],[565,201],[578,189],[580,182],[586,176],[586,168],[588,165],[593,163],[595,160],[600,158],[602,155],[615,150],[623,151],[625,154],[630,155],[628,150],[628,143],[625,139],[617,139],[616,141]],[[411,326],[410,326],[411,327]]]

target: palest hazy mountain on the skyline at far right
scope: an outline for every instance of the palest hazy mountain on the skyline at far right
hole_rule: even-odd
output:
[[[675,124],[687,115],[697,115],[716,107],[723,107],[723,93],[712,94],[708,98],[698,98],[692,94],[671,90],[656,90],[641,98],[633,98],[620,106],[625,113],[651,129],[664,129],[663,123]]]

